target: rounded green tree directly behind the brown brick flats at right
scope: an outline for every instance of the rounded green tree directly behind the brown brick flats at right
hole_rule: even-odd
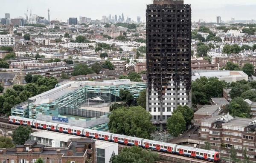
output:
[[[230,101],[228,112],[237,117],[250,117],[250,106],[241,97],[236,97]]]

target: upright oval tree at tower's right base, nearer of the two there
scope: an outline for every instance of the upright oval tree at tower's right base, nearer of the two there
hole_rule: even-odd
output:
[[[186,121],[180,112],[175,112],[167,119],[167,129],[173,137],[186,131]]]

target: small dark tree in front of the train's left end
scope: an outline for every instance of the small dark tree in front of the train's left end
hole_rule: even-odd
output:
[[[29,140],[29,134],[31,133],[30,126],[19,126],[12,134],[12,140],[15,144],[24,144],[26,140]]]

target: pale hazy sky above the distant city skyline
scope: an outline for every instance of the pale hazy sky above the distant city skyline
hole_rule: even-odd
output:
[[[0,0],[0,17],[10,13],[12,17],[23,16],[27,8],[32,14],[47,18],[50,9],[50,19],[66,21],[68,17],[92,17],[102,19],[102,15],[118,16],[124,13],[125,18],[136,20],[141,16],[145,20],[146,4],[152,0]],[[191,4],[192,21],[200,18],[206,21],[216,21],[220,15],[222,20],[256,20],[256,0],[184,0]]]

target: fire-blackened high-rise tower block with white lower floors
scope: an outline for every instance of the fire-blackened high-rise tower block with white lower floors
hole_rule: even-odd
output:
[[[191,7],[154,0],[146,21],[147,110],[164,126],[177,106],[191,106]]]

